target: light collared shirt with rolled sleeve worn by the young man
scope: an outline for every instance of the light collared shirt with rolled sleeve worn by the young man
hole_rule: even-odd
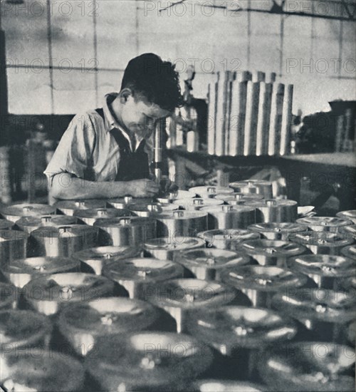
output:
[[[83,178],[85,170],[90,167],[95,181],[114,181],[120,165],[120,150],[115,138],[110,132],[117,128],[130,143],[133,149],[135,140],[117,123],[110,110],[110,103],[117,93],[105,96],[103,103],[104,120],[96,110],[90,110],[82,115],[75,115],[63,134],[58,147],[48,163],[44,174],[48,177],[51,187],[53,177],[60,173],[69,173]],[[153,159],[153,135],[146,139],[145,153],[149,162]],[[134,138],[135,139],[135,138]],[[136,138],[135,150],[141,139]]]

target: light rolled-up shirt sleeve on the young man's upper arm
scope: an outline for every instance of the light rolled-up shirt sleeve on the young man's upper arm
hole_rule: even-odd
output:
[[[90,116],[87,113],[75,115],[44,171],[48,185],[51,187],[53,177],[60,173],[84,178],[91,165],[94,146],[95,127]]]

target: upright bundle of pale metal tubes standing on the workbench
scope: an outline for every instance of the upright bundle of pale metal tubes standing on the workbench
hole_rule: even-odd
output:
[[[209,85],[210,155],[286,155],[290,152],[293,85],[276,73],[226,71]]]

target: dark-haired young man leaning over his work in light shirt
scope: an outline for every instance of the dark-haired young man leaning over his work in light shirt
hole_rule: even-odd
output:
[[[102,109],[76,115],[44,172],[56,199],[153,197],[148,180],[157,120],[181,105],[172,63],[145,53],[125,69],[120,93],[105,96]]]

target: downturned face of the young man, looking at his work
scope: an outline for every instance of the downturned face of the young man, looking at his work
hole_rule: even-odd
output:
[[[171,113],[155,103],[128,96],[122,105],[121,120],[125,127],[139,138],[149,138],[155,129],[157,120]]]

